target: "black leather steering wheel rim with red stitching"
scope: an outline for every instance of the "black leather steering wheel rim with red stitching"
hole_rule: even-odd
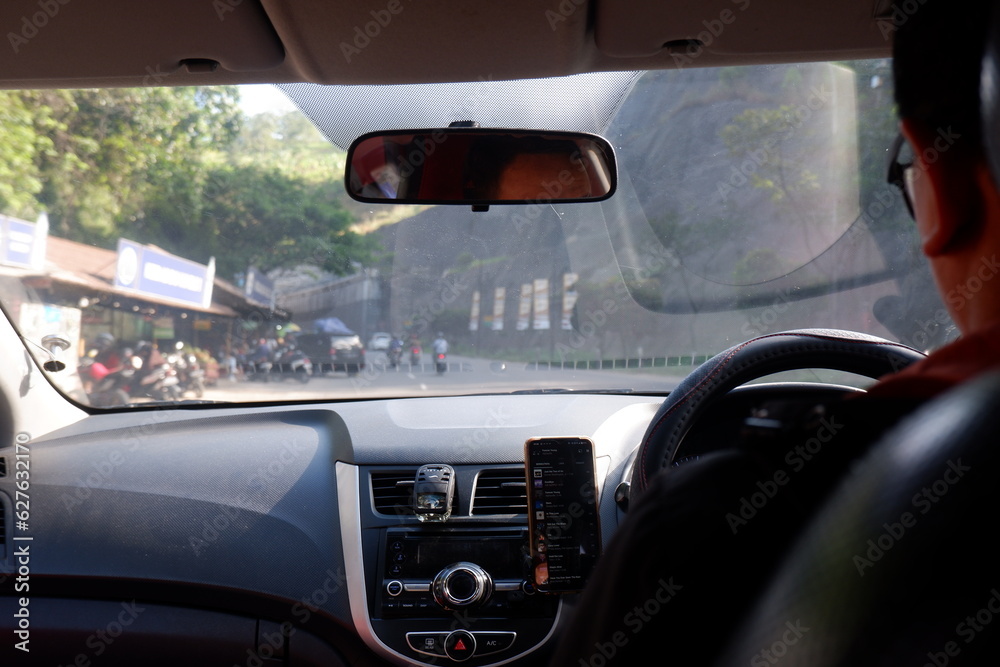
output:
[[[772,373],[827,368],[878,378],[924,354],[877,336],[836,329],[798,329],[753,338],[720,352],[688,375],[657,410],[636,456],[631,493],[641,493],[673,465],[684,436],[718,397]]]

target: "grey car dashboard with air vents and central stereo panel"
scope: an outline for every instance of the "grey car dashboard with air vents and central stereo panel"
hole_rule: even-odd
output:
[[[607,542],[658,406],[482,395],[91,415],[0,449],[0,625],[16,632],[30,595],[32,657],[46,664],[544,662],[575,595],[530,582],[524,443],[594,441]],[[21,451],[27,530],[15,524]],[[445,522],[410,506],[424,464],[455,471]],[[492,594],[442,597],[481,576]]]

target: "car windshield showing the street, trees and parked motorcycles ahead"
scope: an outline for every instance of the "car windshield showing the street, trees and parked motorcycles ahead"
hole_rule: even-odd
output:
[[[888,60],[0,97],[3,307],[94,407],[662,393],[770,332],[955,335],[885,182]],[[454,120],[601,134],[618,192],[347,197],[354,137]]]

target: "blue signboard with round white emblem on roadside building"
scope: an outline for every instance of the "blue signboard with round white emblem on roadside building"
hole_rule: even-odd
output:
[[[198,264],[159,248],[118,239],[115,287],[207,308],[212,303],[214,261]]]

